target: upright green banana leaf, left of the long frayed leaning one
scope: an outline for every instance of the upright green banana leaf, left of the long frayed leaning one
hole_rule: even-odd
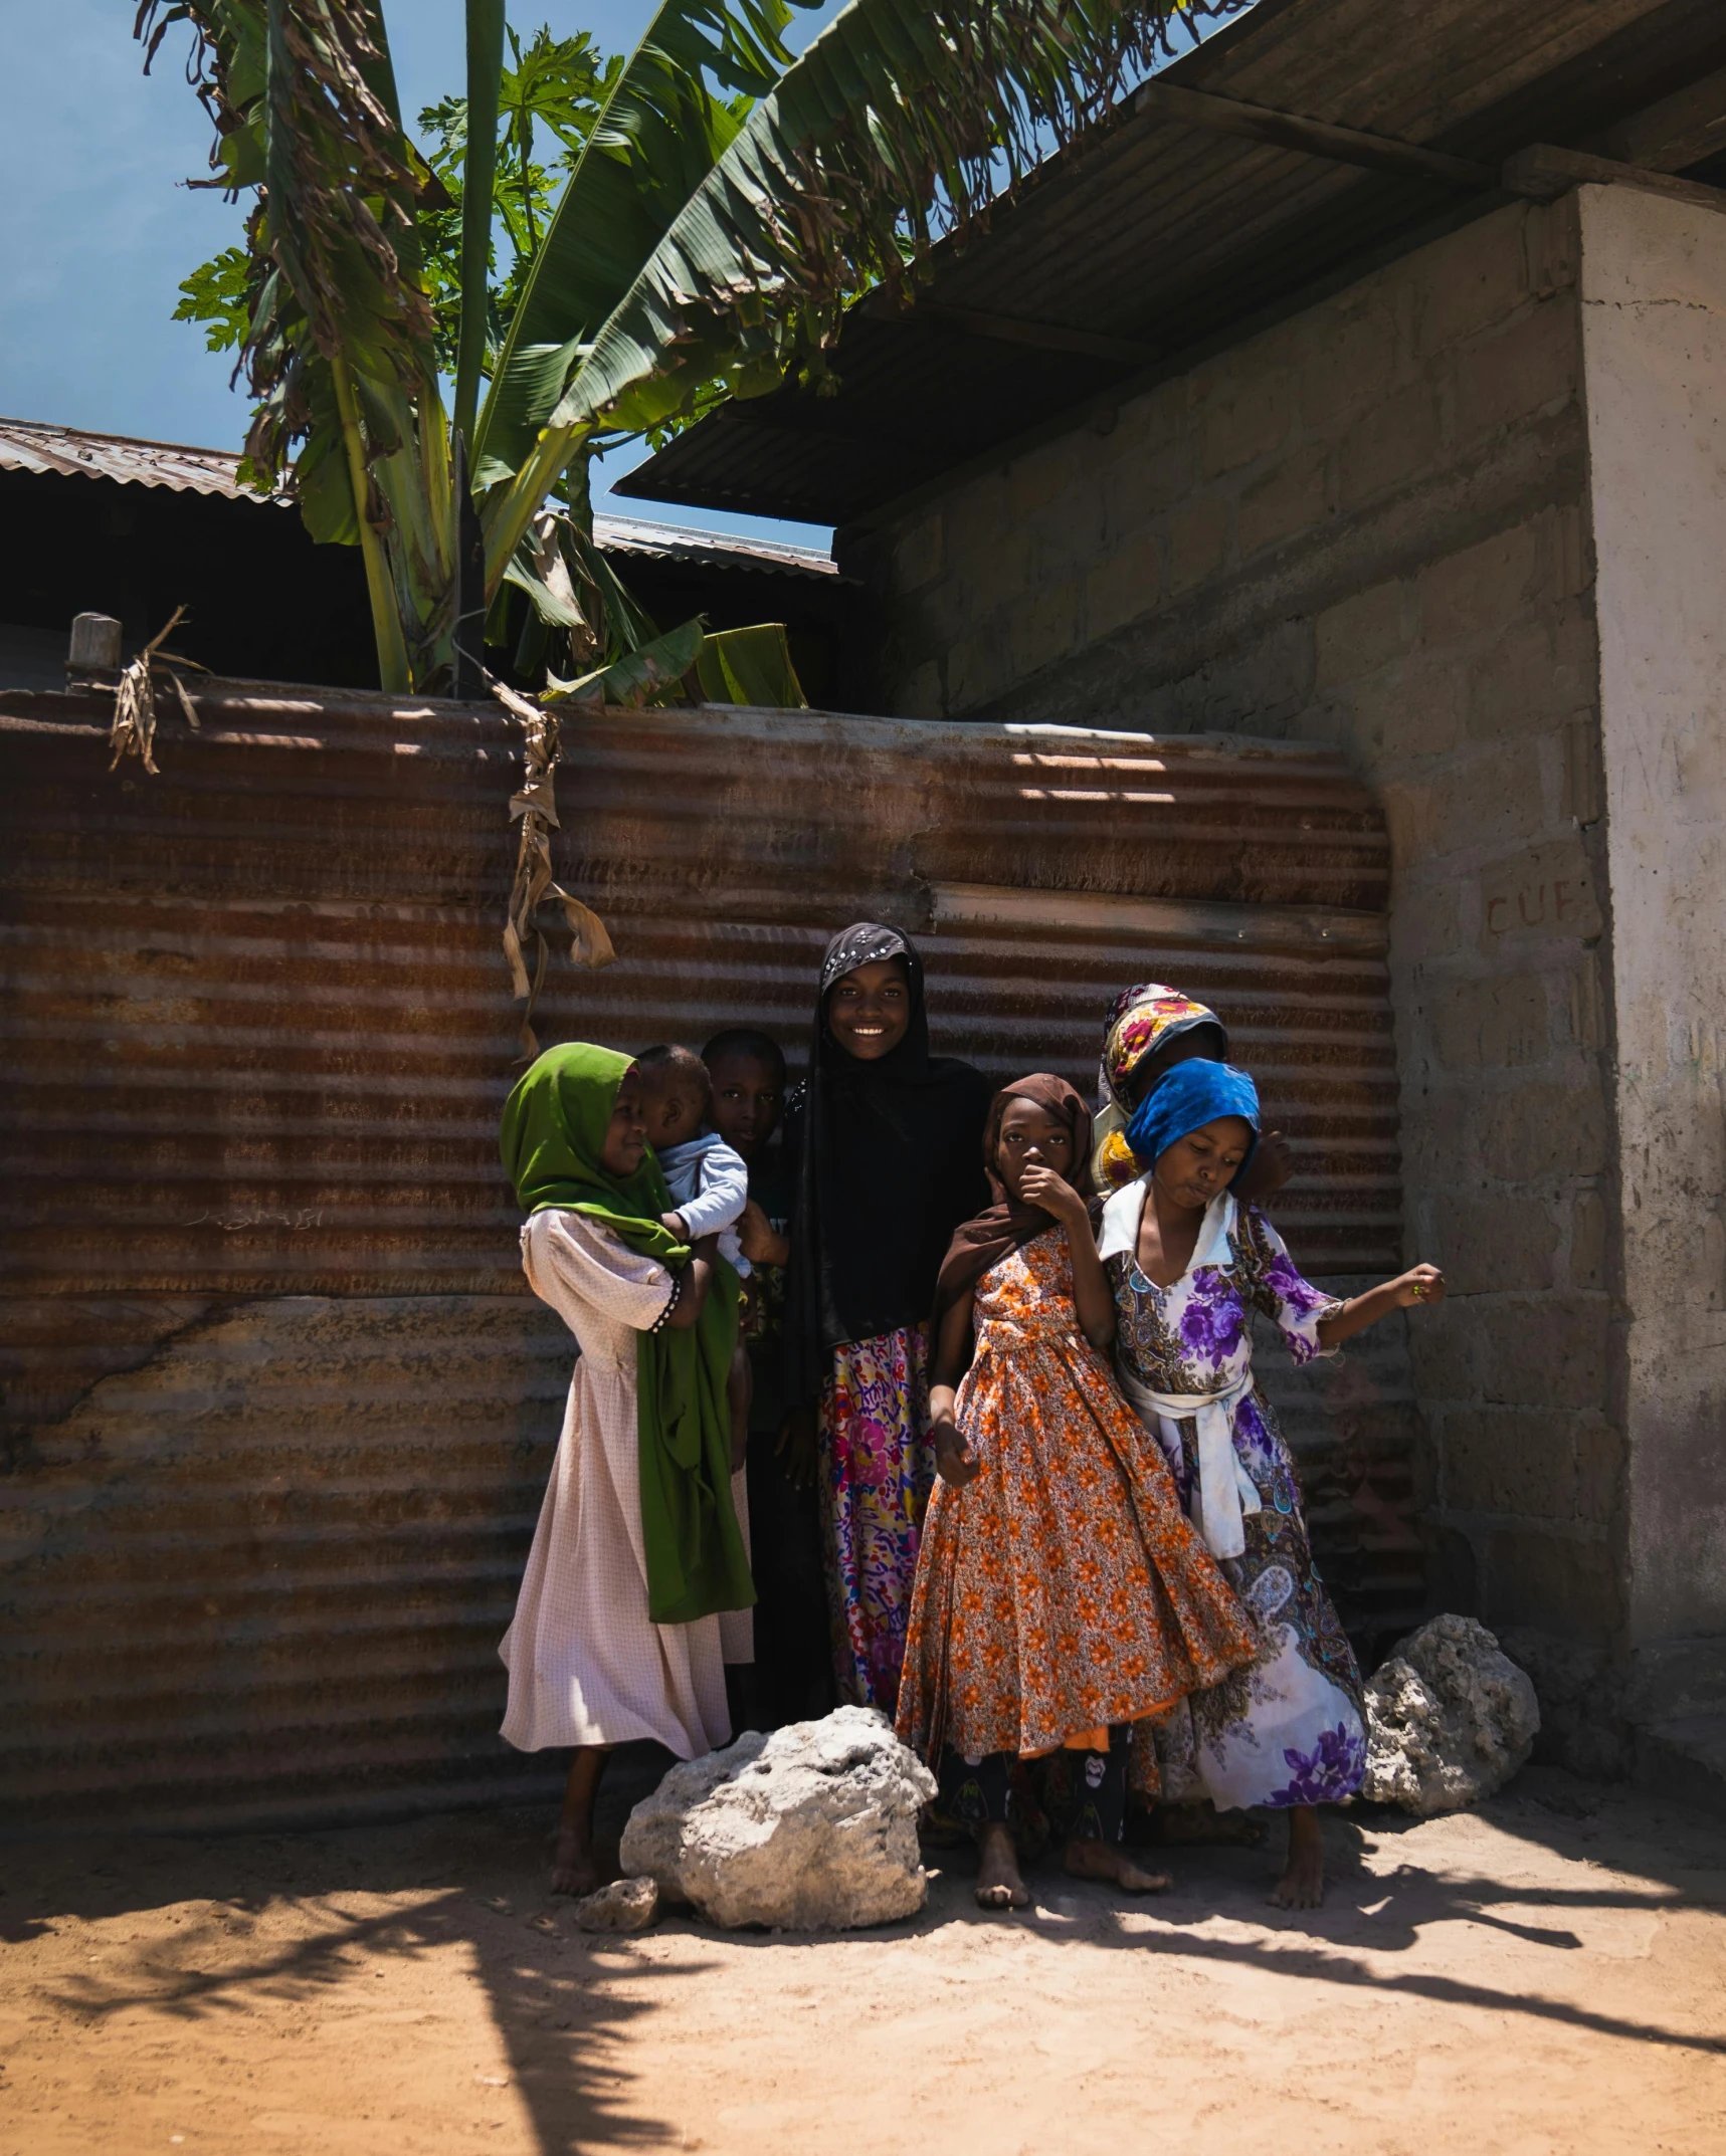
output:
[[[800,6],[818,0],[798,0]],[[477,429],[485,472],[516,470],[576,364],[738,132],[714,97],[764,97],[790,60],[785,0],[665,0],[630,54],[539,244]]]

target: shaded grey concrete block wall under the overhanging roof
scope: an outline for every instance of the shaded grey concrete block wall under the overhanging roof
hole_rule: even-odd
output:
[[[1575,198],[1499,209],[889,524],[880,707],[1344,744],[1394,837],[1433,1598],[1620,1639]]]

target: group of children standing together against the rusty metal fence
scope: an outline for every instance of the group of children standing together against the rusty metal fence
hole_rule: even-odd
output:
[[[693,1757],[837,1697],[936,1770],[984,1908],[1027,1902],[1031,1818],[1077,1876],[1167,1884],[1124,1854],[1128,1792],[1169,1841],[1286,1811],[1273,1902],[1320,1899],[1361,1688],[1251,1315],[1307,1360],[1443,1279],[1299,1276],[1256,1203],[1288,1149],[1215,1011],[1126,990],[1096,1117],[1049,1074],[990,1097],[930,1052],[913,942],[859,923],[794,1095],[751,1028],[572,1044],[511,1093],[503,1158],[580,1343],[503,1641],[505,1738],[574,1746],[557,1889],[598,1884],[611,1746]]]

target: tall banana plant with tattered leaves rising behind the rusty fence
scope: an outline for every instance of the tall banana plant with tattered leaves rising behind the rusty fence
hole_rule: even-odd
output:
[[[787,0],[662,0],[606,71],[490,349],[507,26],[503,0],[468,0],[453,420],[421,244],[449,194],[401,125],[382,0],[140,0],[136,34],[149,67],[192,28],[218,129],[205,185],[255,196],[246,470],[289,483],[313,537],[360,545],[382,683],[455,681],[518,589],[589,662],[563,694],[665,696],[695,671],[703,694],[800,703],[781,630],[731,632],[701,664],[699,623],[660,636],[628,599],[593,545],[591,459],[790,375],[820,386],[850,300],[906,293],[1174,24],[1245,4],[850,0],[794,60]]]

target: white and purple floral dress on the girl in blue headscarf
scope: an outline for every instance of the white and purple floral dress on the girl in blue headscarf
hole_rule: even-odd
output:
[[[1146,1279],[1131,1250],[1107,1266],[1122,1376],[1156,1393],[1215,1393],[1249,1378],[1251,1311],[1277,1326],[1297,1363],[1310,1363],[1320,1352],[1318,1322],[1340,1309],[1301,1279],[1264,1214],[1232,1199],[1172,1287]],[[1159,1442],[1191,1509],[1195,1421],[1159,1419]],[[1219,1809],[1335,1802],[1353,1796],[1366,1772],[1361,1677],[1312,1563],[1295,1462],[1254,1384],[1234,1408],[1234,1453],[1260,1509],[1245,1514],[1245,1552],[1223,1559],[1221,1570],[1258,1623],[1262,1649],[1251,1669],[1193,1695],[1159,1725],[1163,1794],[1208,1796]]]

